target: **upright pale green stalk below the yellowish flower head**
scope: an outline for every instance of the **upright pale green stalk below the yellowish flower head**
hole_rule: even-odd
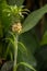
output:
[[[17,35],[14,38],[14,63],[13,63],[13,71],[16,71],[16,60],[17,60]]]

